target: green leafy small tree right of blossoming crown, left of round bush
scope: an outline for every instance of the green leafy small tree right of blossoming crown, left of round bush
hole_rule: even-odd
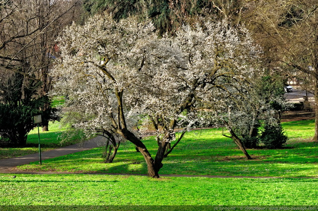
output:
[[[283,81],[279,76],[255,78],[248,92],[246,103],[237,110],[232,109],[232,112],[237,112],[238,115],[232,114],[231,124],[245,148],[257,148],[260,143],[260,121],[277,122],[276,116],[280,117],[281,112],[288,106],[284,100]]]

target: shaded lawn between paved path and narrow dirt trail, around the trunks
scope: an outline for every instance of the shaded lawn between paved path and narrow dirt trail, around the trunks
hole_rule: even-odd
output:
[[[246,160],[235,143],[222,136],[221,129],[197,130],[186,134],[172,153],[163,160],[159,174],[317,177],[318,143],[309,141],[314,135],[314,121],[283,123],[290,141],[283,149],[248,149],[254,158]],[[300,139],[302,137],[302,139]],[[144,141],[152,154],[153,138]],[[19,170],[147,173],[142,155],[130,142],[123,143],[113,163],[103,163],[102,148],[95,148],[19,166]]]

